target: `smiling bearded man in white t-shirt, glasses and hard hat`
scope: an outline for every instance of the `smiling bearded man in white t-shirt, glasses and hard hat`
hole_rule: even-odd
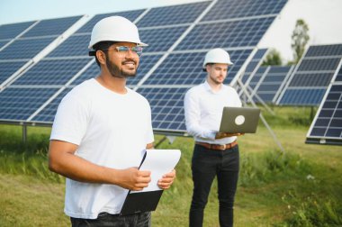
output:
[[[128,190],[142,190],[150,181],[150,172],[137,168],[144,150],[153,148],[150,106],[126,86],[143,46],[126,18],[96,23],[89,55],[101,73],[72,89],[58,106],[49,169],[67,177],[65,213],[73,226],[150,225],[150,213],[118,214]],[[167,189],[174,179],[175,170],[158,186]]]

